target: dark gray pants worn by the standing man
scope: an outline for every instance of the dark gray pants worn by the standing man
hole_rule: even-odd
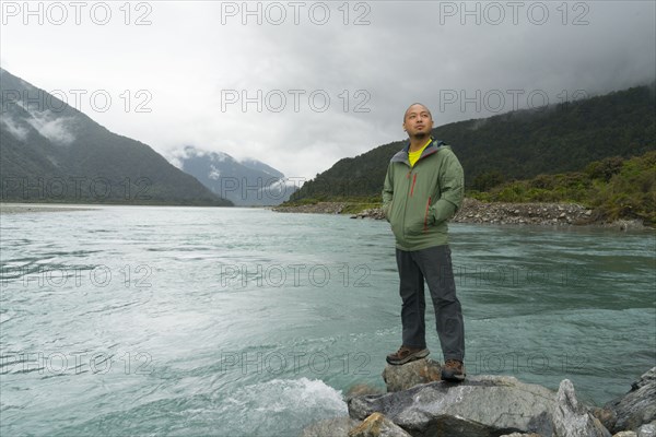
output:
[[[456,297],[450,248],[445,245],[414,251],[396,249],[396,257],[403,300],[403,345],[422,349],[426,346],[425,279],[435,308],[435,324],[444,359],[464,361],[465,324],[460,302]]]

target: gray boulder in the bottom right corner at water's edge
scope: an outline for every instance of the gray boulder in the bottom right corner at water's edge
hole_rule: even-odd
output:
[[[610,424],[612,433],[621,430],[637,430],[641,425],[656,420],[656,367],[647,370],[637,381],[631,385],[631,390],[604,405],[611,410],[617,420]]]

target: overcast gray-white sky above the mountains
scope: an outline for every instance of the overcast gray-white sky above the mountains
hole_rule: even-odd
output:
[[[312,178],[413,102],[440,126],[654,81],[655,4],[2,1],[0,64],[165,156]]]

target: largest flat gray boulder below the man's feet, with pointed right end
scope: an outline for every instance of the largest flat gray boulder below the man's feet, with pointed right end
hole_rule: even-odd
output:
[[[508,376],[431,382],[408,390],[356,397],[349,415],[379,412],[413,436],[490,437],[536,433],[551,437],[610,437],[576,399],[569,380],[558,393]]]

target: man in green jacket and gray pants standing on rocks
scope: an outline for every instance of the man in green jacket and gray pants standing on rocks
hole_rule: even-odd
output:
[[[465,379],[465,327],[456,297],[447,221],[460,208],[462,166],[443,141],[431,137],[433,117],[422,104],[403,116],[410,142],[393,156],[383,188],[383,211],[396,238],[402,299],[402,345],[387,362],[401,365],[429,355],[425,342],[424,280],[435,308],[445,365],[442,379]]]

